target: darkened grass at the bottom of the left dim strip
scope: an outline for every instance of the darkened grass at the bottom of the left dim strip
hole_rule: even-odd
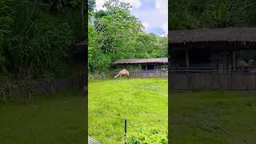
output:
[[[34,96],[28,104],[0,103],[1,144],[85,142],[82,90]]]

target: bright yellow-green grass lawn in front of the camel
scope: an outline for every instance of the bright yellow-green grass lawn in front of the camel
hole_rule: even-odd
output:
[[[127,141],[136,137],[152,142],[155,137],[155,143],[160,143],[168,128],[167,83],[167,79],[161,78],[89,82],[90,136],[102,143],[123,143],[127,118]],[[154,136],[150,135],[152,131]]]

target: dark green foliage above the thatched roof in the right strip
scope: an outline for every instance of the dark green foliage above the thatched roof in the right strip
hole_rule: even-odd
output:
[[[169,1],[171,30],[203,27],[255,26],[254,0]]]

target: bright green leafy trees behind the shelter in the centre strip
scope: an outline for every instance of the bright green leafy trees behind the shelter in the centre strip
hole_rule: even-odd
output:
[[[146,34],[130,4],[106,1],[106,10],[93,11],[89,23],[89,72],[104,73],[119,58],[158,58],[167,55],[167,38]]]

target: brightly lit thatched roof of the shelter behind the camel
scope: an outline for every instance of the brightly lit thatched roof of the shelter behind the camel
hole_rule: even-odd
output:
[[[147,63],[155,63],[155,64],[166,64],[168,63],[168,58],[133,58],[133,59],[118,59],[113,62],[113,65],[124,65],[124,64],[147,64]]]

